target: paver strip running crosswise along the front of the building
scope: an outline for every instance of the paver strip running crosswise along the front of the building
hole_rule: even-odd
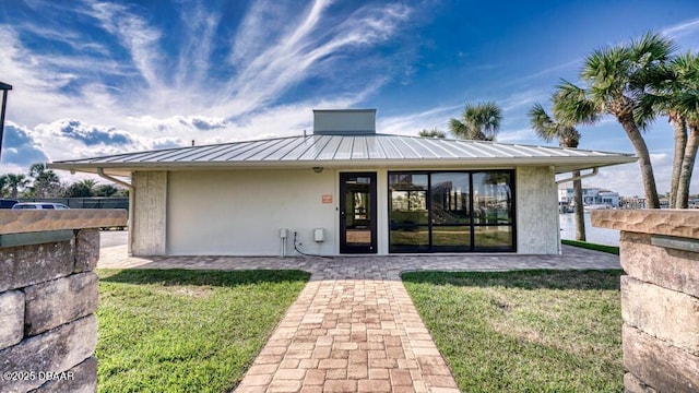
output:
[[[126,246],[100,249],[99,269],[301,270],[311,279],[399,279],[411,271],[621,269],[619,257],[564,246],[561,255],[400,254],[389,257],[129,257]]]

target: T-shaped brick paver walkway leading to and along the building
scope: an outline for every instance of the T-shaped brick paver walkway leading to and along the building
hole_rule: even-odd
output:
[[[236,392],[459,392],[417,314],[405,271],[620,269],[616,255],[564,248],[564,255],[360,258],[128,258],[102,250],[99,267],[298,269],[311,279]]]

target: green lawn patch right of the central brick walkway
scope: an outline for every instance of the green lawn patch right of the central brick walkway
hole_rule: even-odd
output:
[[[623,392],[621,271],[406,273],[463,392]]]

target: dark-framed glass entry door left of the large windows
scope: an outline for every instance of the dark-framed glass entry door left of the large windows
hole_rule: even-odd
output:
[[[340,252],[376,253],[376,174],[340,174]]]

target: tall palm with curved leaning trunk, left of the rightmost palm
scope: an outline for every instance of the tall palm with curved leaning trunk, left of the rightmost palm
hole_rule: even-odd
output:
[[[630,44],[597,49],[585,58],[580,75],[588,88],[567,81],[559,85],[562,95],[580,100],[565,99],[554,108],[557,118],[571,123],[595,114],[616,118],[639,157],[643,191],[651,209],[659,209],[660,201],[648,145],[637,122],[638,108],[647,94],[648,75],[670,60],[674,50],[671,39],[650,33]]]

